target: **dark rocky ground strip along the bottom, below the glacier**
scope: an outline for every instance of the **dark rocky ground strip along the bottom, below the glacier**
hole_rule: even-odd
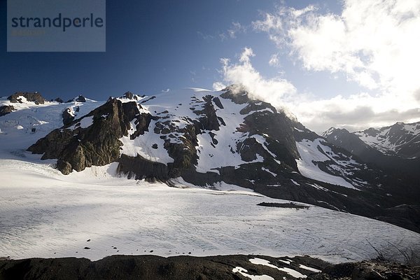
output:
[[[209,257],[159,257],[156,255],[112,255],[102,260],[85,258],[0,259],[3,279],[249,279],[248,275],[268,275],[273,279],[296,279],[287,272],[249,260],[260,258],[276,267],[293,269],[307,279],[420,279],[420,267],[370,260],[331,265],[309,256],[272,258],[263,255],[217,255]],[[283,260],[283,261],[281,261]],[[290,264],[288,264],[289,262]],[[301,265],[304,265],[302,267]],[[318,269],[321,272],[309,270]],[[246,269],[246,271],[244,270]],[[269,278],[268,278],[269,279]]]

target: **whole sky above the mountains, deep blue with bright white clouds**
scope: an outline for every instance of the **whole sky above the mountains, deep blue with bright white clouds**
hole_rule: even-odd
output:
[[[48,99],[83,94],[103,100],[126,91],[154,94],[168,88],[249,83],[255,85],[249,86],[255,96],[285,108],[318,132],[329,126],[355,130],[416,120],[420,85],[398,87],[405,80],[398,73],[382,71],[379,63],[394,63],[386,55],[400,45],[390,46],[386,34],[380,35],[383,48],[381,38],[375,38],[379,45],[337,38],[369,41],[363,36],[381,34],[381,20],[389,19],[407,23],[404,30],[401,24],[387,27],[390,32],[407,33],[419,27],[419,4],[356,2],[109,0],[106,52],[6,52],[6,40],[2,40],[0,95],[38,91]],[[394,13],[395,8],[401,12]],[[365,27],[370,17],[367,23],[377,25],[376,29]],[[4,38],[3,0],[0,18]],[[409,38],[401,40],[407,43]],[[419,44],[414,39],[409,43]],[[405,63],[404,59],[401,56],[402,62],[391,67]],[[412,59],[415,62],[418,55]],[[395,92],[405,94],[404,102],[390,102]]]

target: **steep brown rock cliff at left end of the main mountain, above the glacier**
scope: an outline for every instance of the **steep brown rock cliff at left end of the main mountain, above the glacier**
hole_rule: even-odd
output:
[[[42,159],[57,159],[57,168],[63,174],[107,165],[120,157],[122,143],[118,139],[127,135],[134,118],[143,118],[135,102],[123,104],[110,99],[86,116],[53,130],[28,151],[43,153]]]

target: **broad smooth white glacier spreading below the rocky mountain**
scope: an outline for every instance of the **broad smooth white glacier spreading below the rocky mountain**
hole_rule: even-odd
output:
[[[242,253],[341,262],[374,258],[374,248],[399,260],[398,249],[420,251],[419,234],[369,218],[260,207],[286,201],[243,190],[127,180],[112,176],[115,164],[64,176],[23,156],[0,160],[0,257]]]

